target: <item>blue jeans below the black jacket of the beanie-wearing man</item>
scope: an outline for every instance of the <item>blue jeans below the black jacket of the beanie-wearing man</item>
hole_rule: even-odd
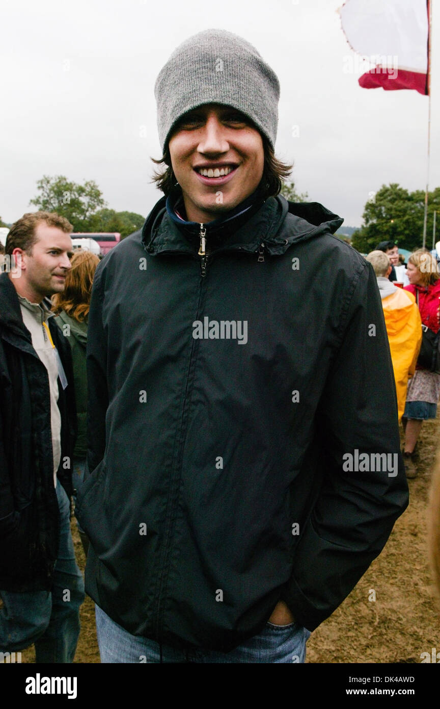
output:
[[[160,646],[147,637],[131,635],[98,605],[95,605],[95,614],[101,662],[304,662],[306,641],[311,635],[305,627],[296,623],[266,623],[258,635],[231,652],[193,648],[178,650],[168,645]]]

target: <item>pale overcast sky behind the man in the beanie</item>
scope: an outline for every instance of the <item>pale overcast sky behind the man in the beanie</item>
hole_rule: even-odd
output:
[[[369,192],[424,189],[428,97],[361,89],[347,73],[342,0],[0,0],[0,216],[25,211],[43,174],[93,179],[108,206],[146,216],[160,157],[154,82],[173,49],[207,28],[242,35],[281,84],[276,152],[318,201],[361,225]],[[437,27],[438,25],[438,27]],[[432,84],[440,86],[434,3]],[[432,96],[431,188],[440,186]],[[297,126],[297,128],[295,128]],[[299,133],[299,135],[294,135]]]

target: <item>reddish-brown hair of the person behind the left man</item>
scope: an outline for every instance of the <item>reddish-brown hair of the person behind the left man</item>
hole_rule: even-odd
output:
[[[71,269],[66,273],[66,283],[62,293],[52,298],[52,311],[64,312],[78,320],[86,320],[90,310],[93,277],[98,266],[98,256],[90,251],[77,251],[71,258]]]

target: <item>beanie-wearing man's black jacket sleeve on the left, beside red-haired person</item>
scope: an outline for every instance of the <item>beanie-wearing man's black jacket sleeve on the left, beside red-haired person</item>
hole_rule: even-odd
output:
[[[103,325],[103,291],[98,266],[93,281],[87,336],[87,464],[86,476],[102,461],[105,452],[105,415],[108,408],[107,337]]]

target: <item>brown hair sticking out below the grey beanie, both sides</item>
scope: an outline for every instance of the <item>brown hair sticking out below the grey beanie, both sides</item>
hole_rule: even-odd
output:
[[[265,162],[260,185],[263,189],[263,196],[267,199],[267,197],[272,197],[279,194],[282,189],[284,179],[289,177],[291,174],[292,165],[287,165],[281,160],[278,160],[278,158],[275,157],[274,150],[265,135],[262,135],[262,133],[260,135],[265,153]],[[156,170],[153,176],[153,182],[156,182],[156,187],[161,189],[163,194],[168,197],[177,184],[173,167],[171,166],[171,157],[168,145],[160,160],[154,160],[154,157],[152,157],[151,160],[156,162],[158,165],[165,164],[167,166],[166,169],[162,171]]]

